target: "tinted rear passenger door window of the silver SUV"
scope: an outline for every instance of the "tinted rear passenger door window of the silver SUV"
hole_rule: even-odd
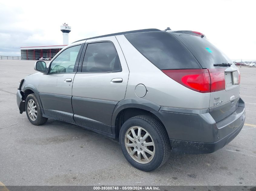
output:
[[[118,72],[121,64],[114,45],[110,42],[87,45],[82,72]]]

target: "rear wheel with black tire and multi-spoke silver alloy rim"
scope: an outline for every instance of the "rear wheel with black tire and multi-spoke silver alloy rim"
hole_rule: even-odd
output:
[[[136,130],[136,128],[138,129]],[[141,129],[141,136],[138,133],[139,129]],[[132,135],[132,130],[136,136]],[[145,133],[148,133],[149,136],[144,141],[142,135]],[[134,138],[133,141],[130,138]],[[155,170],[161,167],[170,156],[171,146],[165,127],[158,120],[149,116],[135,116],[125,121],[119,133],[119,143],[126,160],[139,170]],[[146,144],[150,146],[146,146]],[[136,148],[130,145],[136,146]],[[136,151],[134,152],[134,150]],[[148,151],[151,151],[151,154]],[[132,153],[134,154],[132,155]],[[145,154],[146,157],[144,157]]]

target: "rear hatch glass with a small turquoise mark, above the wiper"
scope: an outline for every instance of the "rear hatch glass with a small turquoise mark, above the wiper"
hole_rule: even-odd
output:
[[[206,38],[194,35],[179,35],[181,41],[185,40],[188,49],[194,54],[203,68],[216,68],[214,64],[233,63],[224,53],[216,48]]]

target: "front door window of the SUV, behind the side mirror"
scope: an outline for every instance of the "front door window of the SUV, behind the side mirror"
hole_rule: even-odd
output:
[[[51,63],[49,73],[73,72],[81,45],[72,46],[60,53]]]

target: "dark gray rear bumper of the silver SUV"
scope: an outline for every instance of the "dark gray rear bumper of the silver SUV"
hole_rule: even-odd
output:
[[[222,148],[240,132],[245,120],[245,104],[240,98],[237,109],[217,123],[208,109],[161,107],[158,112],[152,113],[165,125],[173,152],[211,153]]]

